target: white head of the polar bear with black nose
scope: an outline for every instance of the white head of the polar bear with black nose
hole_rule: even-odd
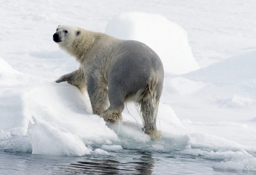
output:
[[[60,47],[69,47],[80,34],[81,30],[78,27],[59,25],[53,35],[53,41]]]

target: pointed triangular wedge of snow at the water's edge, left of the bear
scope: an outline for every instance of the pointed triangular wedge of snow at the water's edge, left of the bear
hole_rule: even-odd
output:
[[[30,122],[28,128],[28,135],[32,143],[32,154],[90,155],[90,150],[77,135],[44,121],[39,122],[35,117],[33,117],[33,121],[34,124]]]

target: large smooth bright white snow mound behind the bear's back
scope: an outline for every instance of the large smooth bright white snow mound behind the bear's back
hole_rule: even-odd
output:
[[[122,13],[108,22],[105,33],[145,43],[159,55],[166,73],[184,74],[200,68],[186,31],[159,14]]]

